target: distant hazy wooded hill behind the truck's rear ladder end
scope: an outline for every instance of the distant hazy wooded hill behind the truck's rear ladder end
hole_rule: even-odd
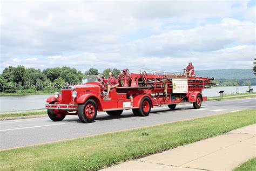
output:
[[[250,69],[195,70],[197,76],[214,77],[217,79],[256,79]]]

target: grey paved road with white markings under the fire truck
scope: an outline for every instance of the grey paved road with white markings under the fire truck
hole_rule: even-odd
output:
[[[134,117],[131,110],[124,111],[118,117],[99,112],[96,121],[91,124],[82,124],[77,116],[72,115],[60,122],[53,122],[47,117],[0,121],[0,149],[120,131],[248,108],[255,109],[255,106],[256,98],[246,98],[204,102],[199,110],[194,110],[192,104],[179,105],[174,111],[166,106],[156,107],[152,109],[149,117]]]

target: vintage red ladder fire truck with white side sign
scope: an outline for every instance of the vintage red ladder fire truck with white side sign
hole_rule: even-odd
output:
[[[134,115],[146,117],[154,106],[167,105],[173,110],[177,104],[192,103],[198,109],[207,100],[203,89],[210,88],[214,78],[153,70],[130,73],[125,69],[118,80],[119,86],[107,98],[107,80],[101,76],[85,76],[80,85],[64,86],[61,94],[55,92],[47,99],[49,118],[61,121],[66,115],[78,115],[80,121],[89,123],[95,120],[98,111],[120,115],[131,109]]]

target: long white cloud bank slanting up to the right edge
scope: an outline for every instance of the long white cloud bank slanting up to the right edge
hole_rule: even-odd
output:
[[[224,18],[217,24],[206,24],[187,30],[170,30],[134,40],[128,45],[134,52],[147,55],[180,55],[181,51],[215,51],[232,44],[254,44],[255,31],[253,22]]]

